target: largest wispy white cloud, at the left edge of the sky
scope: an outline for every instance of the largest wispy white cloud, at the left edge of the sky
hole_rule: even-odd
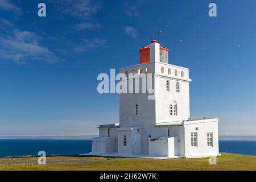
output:
[[[0,34],[0,57],[18,64],[27,64],[33,60],[47,63],[61,61],[47,47],[41,46],[39,39],[34,32],[9,28],[8,31]]]

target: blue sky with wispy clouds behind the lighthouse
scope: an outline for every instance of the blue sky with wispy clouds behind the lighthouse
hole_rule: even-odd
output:
[[[249,0],[0,0],[0,135],[91,135],[118,122],[118,94],[98,94],[97,75],[138,64],[158,27],[169,63],[190,68],[191,118],[218,117],[220,134],[255,134],[255,7]]]

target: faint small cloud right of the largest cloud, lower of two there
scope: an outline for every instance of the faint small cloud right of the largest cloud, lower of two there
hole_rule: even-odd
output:
[[[82,46],[76,46],[74,48],[75,52],[85,52],[89,49],[99,48],[99,47],[106,47],[106,40],[95,38],[92,40],[82,39]]]

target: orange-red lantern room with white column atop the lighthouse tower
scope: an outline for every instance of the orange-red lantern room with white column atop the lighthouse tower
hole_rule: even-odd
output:
[[[159,61],[162,63],[169,63],[168,61],[169,49],[164,46],[160,46],[156,40],[151,40],[150,45],[139,49],[140,63],[149,63],[158,61],[153,56],[159,57]]]

